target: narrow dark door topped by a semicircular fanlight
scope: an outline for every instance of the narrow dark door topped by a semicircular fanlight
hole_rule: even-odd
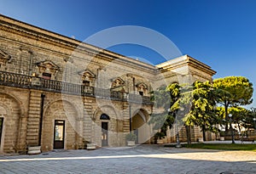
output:
[[[102,147],[108,146],[108,121],[110,120],[109,116],[102,114],[100,117],[102,121]]]

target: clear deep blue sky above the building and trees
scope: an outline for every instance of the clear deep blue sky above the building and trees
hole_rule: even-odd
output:
[[[218,72],[213,78],[246,76],[253,84],[255,8],[253,0],[0,0],[1,14],[80,41],[114,26],[147,27],[167,36],[183,54],[210,65]],[[158,53],[143,47],[109,49],[153,64],[163,61]]]

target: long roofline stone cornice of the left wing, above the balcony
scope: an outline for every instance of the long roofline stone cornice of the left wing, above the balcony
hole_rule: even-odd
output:
[[[26,24],[20,20],[11,19],[2,14],[0,14],[0,30],[8,31],[20,36],[26,36],[37,41],[47,42],[49,44],[53,44],[55,46],[66,48],[72,51],[75,49],[78,52],[88,54],[92,57],[106,59],[108,61],[118,60],[117,62],[119,63],[128,63],[133,65],[133,67],[137,66],[137,68],[140,69],[143,68],[144,70],[155,70],[154,65],[148,65],[141,61],[125,57],[119,53],[113,53],[106,49],[97,48],[96,46],[80,42],[76,39],[62,36],[55,32],[47,31],[34,25]]]

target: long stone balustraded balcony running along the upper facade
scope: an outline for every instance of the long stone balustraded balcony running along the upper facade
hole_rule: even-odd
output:
[[[8,87],[21,87],[27,89],[38,89],[52,93],[65,93],[94,98],[104,98],[110,100],[128,101],[139,104],[154,104],[147,96],[128,94],[111,91],[96,87],[86,87],[80,84],[69,83],[65,81],[46,80],[34,76],[0,71],[0,85]]]

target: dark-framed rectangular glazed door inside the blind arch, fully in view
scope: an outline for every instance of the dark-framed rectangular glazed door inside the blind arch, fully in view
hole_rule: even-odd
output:
[[[65,121],[55,121],[54,149],[64,149]]]

